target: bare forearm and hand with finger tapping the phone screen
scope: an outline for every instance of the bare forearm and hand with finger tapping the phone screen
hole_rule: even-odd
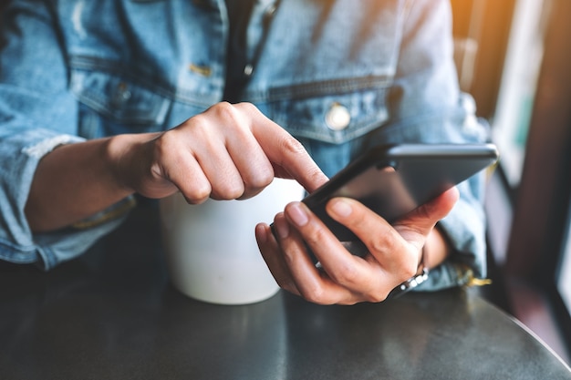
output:
[[[160,133],[67,144],[43,157],[26,202],[32,231],[54,231],[134,192],[190,203],[245,199],[274,177],[308,191],[327,177],[301,143],[253,105],[217,104]]]

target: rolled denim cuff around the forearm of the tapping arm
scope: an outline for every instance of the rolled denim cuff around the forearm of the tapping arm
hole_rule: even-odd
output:
[[[49,233],[30,230],[24,212],[37,164],[58,145],[84,139],[47,129],[28,129],[9,134],[5,128],[0,149],[0,259],[16,263],[36,263],[44,270],[85,252],[100,237],[117,228],[131,199],[123,200],[78,226]]]

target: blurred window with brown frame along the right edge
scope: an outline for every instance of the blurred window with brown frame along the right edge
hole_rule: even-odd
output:
[[[499,180],[492,183],[493,197],[488,196],[490,205],[486,207],[490,246],[505,283],[508,312],[568,363],[570,14],[570,1],[514,2],[501,86],[490,118],[493,141],[501,154],[496,170],[500,175],[494,173]],[[498,221],[506,222],[498,225]]]

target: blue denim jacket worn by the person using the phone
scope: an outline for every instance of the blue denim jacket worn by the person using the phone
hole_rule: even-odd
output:
[[[327,175],[379,143],[487,139],[458,89],[447,0],[261,0],[246,36],[240,100],[300,139]],[[16,0],[1,37],[0,257],[50,269],[118,226],[109,215],[120,205],[100,222],[31,233],[38,160],[59,144],[171,128],[222,100],[225,2]],[[482,177],[460,190],[441,221],[455,253],[426,289],[485,276]]]

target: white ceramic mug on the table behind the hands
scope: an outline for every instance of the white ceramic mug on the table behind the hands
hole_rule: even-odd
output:
[[[206,200],[190,205],[177,192],[160,202],[162,239],[171,283],[200,301],[245,304],[279,290],[254,236],[260,221],[301,200],[294,180],[275,179],[249,200]]]

